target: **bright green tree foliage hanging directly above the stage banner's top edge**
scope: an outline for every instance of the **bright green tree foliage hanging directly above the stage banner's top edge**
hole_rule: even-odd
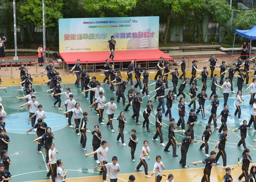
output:
[[[99,17],[124,17],[136,6],[137,0],[83,0],[83,8]],[[97,16],[96,16],[97,17]]]

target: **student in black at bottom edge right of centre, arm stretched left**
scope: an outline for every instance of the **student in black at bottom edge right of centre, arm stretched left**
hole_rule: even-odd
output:
[[[208,157],[202,161],[191,162],[192,165],[200,164],[200,163],[205,164],[204,176],[202,177],[201,182],[210,182],[210,171],[211,171],[212,167],[216,165],[215,157],[216,157],[216,152],[211,151],[210,157]]]

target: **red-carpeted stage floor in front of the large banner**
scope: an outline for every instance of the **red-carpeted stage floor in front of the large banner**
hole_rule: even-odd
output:
[[[109,55],[110,51],[59,53],[59,56],[67,65],[75,64],[77,59],[80,59],[81,63],[86,63],[86,61],[87,63],[103,63],[106,59],[109,59]],[[137,61],[156,61],[159,60],[159,57],[163,57],[165,60],[174,60],[159,49],[115,51],[115,62],[126,62],[135,59]]]

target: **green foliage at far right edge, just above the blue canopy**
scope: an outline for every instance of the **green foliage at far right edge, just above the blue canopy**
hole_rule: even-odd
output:
[[[248,30],[256,24],[256,8],[247,11],[240,11],[234,19],[234,27]]]

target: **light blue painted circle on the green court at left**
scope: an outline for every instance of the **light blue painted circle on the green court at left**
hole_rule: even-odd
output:
[[[20,133],[25,134],[26,131],[32,127],[31,121],[29,121],[29,112],[21,112],[15,114],[7,114],[7,118],[5,119],[5,128],[9,133]],[[48,127],[51,127],[52,131],[56,131],[62,129],[67,126],[67,120],[64,115],[46,112],[46,119],[43,120],[46,122]],[[37,123],[37,119],[36,119]],[[35,134],[35,132],[30,132],[29,134]]]

